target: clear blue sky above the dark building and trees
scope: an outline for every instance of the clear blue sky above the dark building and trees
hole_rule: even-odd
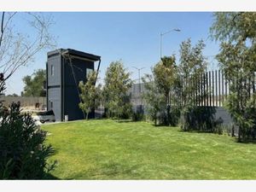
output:
[[[218,54],[218,43],[209,38],[212,25],[212,12],[45,12],[55,21],[49,32],[55,36],[56,49],[78,49],[102,57],[100,82],[112,61],[123,61],[125,68],[131,72],[131,79],[151,73],[160,61],[160,33],[178,28],[181,32],[169,32],[162,36],[162,56],[179,56],[179,46],[188,38],[192,44],[203,39],[207,45],[204,55],[207,56],[208,70],[215,69]],[[19,15],[17,15],[19,16]],[[26,16],[16,19],[15,27],[29,33],[30,28],[23,26]],[[6,95],[20,92],[24,88],[22,78],[31,75],[39,68],[45,68],[47,52],[41,51],[34,61],[26,67],[20,67],[7,82]],[[96,63],[97,66],[97,63]]]

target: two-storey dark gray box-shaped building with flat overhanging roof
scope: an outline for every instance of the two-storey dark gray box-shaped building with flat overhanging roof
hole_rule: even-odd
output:
[[[47,57],[47,109],[54,111],[56,121],[64,120],[66,115],[68,120],[84,119],[79,108],[79,81],[94,70],[96,61],[99,70],[101,57],[74,49],[56,49]]]

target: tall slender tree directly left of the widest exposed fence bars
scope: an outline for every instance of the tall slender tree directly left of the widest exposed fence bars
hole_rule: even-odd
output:
[[[180,63],[178,74],[182,84],[181,91],[181,124],[184,131],[189,130],[190,125],[186,117],[192,108],[199,105],[206,95],[201,93],[198,82],[202,79],[202,74],[206,72],[207,61],[202,54],[205,44],[199,41],[194,47],[191,40],[184,41],[180,46]],[[202,84],[202,80],[201,80]]]

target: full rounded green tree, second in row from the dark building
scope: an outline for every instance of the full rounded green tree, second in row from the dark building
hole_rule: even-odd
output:
[[[121,61],[111,62],[107,69],[103,98],[111,118],[128,118],[131,115],[130,96],[127,96],[132,84],[130,75]]]

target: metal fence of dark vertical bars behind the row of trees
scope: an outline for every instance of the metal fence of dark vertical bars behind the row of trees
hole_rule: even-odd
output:
[[[255,93],[255,73],[251,78],[247,79],[247,83],[250,86],[250,93]],[[169,104],[172,105],[172,101],[177,99],[181,101],[181,94],[183,87],[192,85],[196,87],[196,91],[192,91],[189,95],[190,99],[195,101],[197,106],[205,107],[223,107],[227,96],[230,95],[230,82],[225,78],[222,70],[214,70],[203,73],[199,79],[189,79],[187,82],[181,79],[181,86],[172,87],[169,95]],[[178,88],[179,87],[179,88]],[[133,105],[142,104],[142,95],[146,91],[144,84],[133,84],[128,94],[131,95],[131,102]],[[177,104],[177,102],[174,102]],[[180,103],[181,104],[181,103]]]

